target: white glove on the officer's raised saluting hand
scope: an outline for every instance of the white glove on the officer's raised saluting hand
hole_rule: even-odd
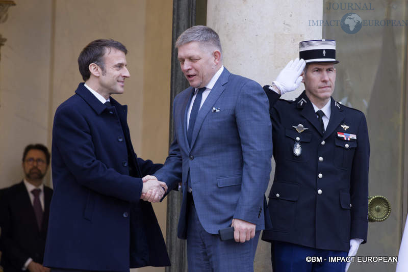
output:
[[[279,73],[276,80],[273,81],[280,91],[281,95],[287,92],[296,90],[301,81],[302,77],[300,74],[303,72],[306,63],[303,59],[296,58],[295,61],[290,61],[284,69]]]

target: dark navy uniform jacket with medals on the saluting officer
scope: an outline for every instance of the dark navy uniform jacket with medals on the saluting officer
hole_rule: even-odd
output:
[[[276,170],[269,194],[272,229],[263,240],[348,251],[351,238],[367,240],[370,146],[364,114],[331,98],[324,134],[303,92],[295,101],[270,102]],[[303,132],[293,126],[302,124]],[[294,146],[301,154],[295,156]]]

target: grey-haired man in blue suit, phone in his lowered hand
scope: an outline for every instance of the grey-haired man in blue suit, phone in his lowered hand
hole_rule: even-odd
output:
[[[169,188],[182,181],[178,236],[187,238],[189,271],[253,271],[269,222],[268,99],[258,83],[223,67],[219,37],[207,26],[186,30],[176,47],[190,87],[174,99],[175,140],[155,177]],[[234,239],[221,241],[218,231],[230,226]]]

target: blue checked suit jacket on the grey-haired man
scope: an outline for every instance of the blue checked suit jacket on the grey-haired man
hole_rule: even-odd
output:
[[[241,219],[265,228],[265,191],[272,157],[268,99],[253,80],[221,73],[187,141],[187,108],[194,88],[174,99],[175,140],[164,167],[155,173],[174,188],[190,172],[195,207],[203,228],[216,234]],[[183,196],[178,236],[186,237],[187,194]]]

